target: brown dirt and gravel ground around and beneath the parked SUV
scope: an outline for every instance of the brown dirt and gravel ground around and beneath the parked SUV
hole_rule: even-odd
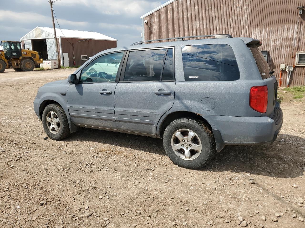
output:
[[[188,170],[160,139],[82,128],[44,140],[37,89],[73,71],[0,75],[0,227],[305,227],[304,99],[283,100],[276,142]]]

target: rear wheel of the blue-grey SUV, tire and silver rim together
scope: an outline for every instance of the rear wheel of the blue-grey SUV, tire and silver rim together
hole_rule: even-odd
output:
[[[167,126],[163,146],[174,164],[190,169],[205,166],[216,150],[212,131],[202,121],[189,118],[176,119]]]

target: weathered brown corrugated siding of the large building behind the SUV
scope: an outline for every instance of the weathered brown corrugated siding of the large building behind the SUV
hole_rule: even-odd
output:
[[[144,18],[145,40],[205,34],[231,34],[262,41],[269,65],[279,76],[279,65],[294,65],[296,51],[305,51],[305,12],[300,17],[296,48],[291,57],[304,0],[177,0]],[[286,85],[286,71],[282,86]],[[305,85],[305,67],[294,67],[290,86]]]

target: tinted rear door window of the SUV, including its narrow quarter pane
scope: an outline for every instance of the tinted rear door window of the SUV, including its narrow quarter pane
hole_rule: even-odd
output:
[[[165,64],[167,66],[163,68]],[[126,64],[124,81],[174,80],[173,71],[172,48],[131,51]]]

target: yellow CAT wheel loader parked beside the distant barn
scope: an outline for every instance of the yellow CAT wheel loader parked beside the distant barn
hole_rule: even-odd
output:
[[[15,71],[33,71],[42,63],[37,51],[21,49],[20,41],[2,41],[0,47],[0,73],[6,68]]]

